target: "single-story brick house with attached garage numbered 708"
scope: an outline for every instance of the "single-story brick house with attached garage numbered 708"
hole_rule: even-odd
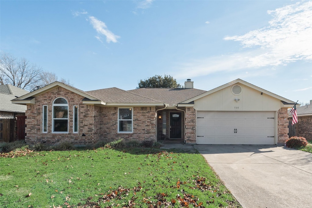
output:
[[[22,97],[29,144],[170,139],[189,144],[277,144],[288,139],[294,102],[237,79],[210,91],[107,88],[82,91],[54,82]]]

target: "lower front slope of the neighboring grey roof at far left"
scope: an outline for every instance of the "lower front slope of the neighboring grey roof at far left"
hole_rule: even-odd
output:
[[[13,104],[11,100],[15,98],[16,98],[15,95],[0,93],[0,110],[25,113],[27,106],[20,105],[20,104]]]

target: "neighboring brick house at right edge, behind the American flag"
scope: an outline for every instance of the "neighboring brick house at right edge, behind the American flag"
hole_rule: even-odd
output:
[[[291,125],[293,116],[290,113],[290,109],[288,113],[289,137],[298,136],[312,140],[312,100],[310,100],[309,105],[297,107],[298,123]]]

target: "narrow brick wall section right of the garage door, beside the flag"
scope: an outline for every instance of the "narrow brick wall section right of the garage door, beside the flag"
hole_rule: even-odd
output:
[[[288,112],[287,108],[277,111],[277,143],[285,143],[288,139]]]

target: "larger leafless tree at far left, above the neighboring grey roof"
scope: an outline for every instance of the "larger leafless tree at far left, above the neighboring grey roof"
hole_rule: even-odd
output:
[[[41,80],[42,67],[29,63],[25,58],[17,59],[11,54],[0,53],[0,84],[31,90]]]

